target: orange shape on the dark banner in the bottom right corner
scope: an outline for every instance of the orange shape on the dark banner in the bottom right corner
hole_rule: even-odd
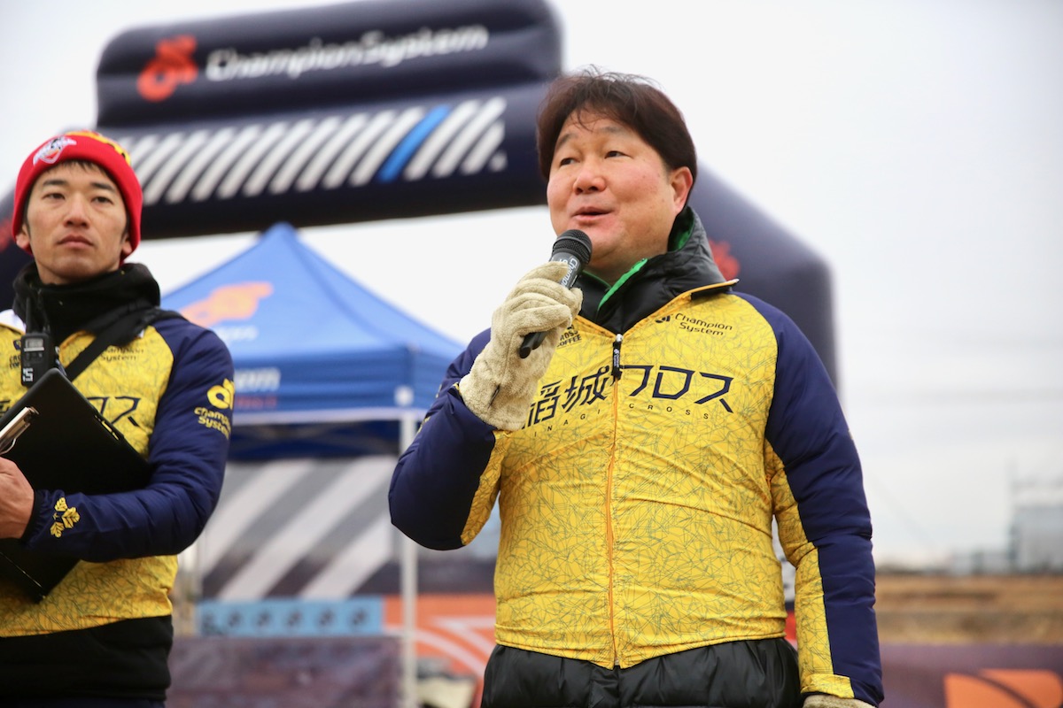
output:
[[[1053,671],[983,669],[945,675],[945,708],[1060,708],[1063,678]]]

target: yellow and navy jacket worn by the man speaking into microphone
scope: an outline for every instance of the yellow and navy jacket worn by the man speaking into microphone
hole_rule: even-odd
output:
[[[458,548],[497,500],[496,641],[627,668],[784,636],[774,519],[802,692],[878,704],[871,521],[834,388],[787,315],[731,292],[691,210],[673,241],[608,293],[580,278],[520,431],[461,400],[477,335],[396,465],[392,521]]]

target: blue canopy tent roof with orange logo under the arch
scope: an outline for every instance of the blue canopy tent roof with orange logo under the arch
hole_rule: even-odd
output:
[[[163,297],[236,365],[231,459],[395,453],[461,347],[362,288],[279,223]]]

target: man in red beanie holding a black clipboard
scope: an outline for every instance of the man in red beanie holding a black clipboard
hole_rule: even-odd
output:
[[[65,370],[151,476],[120,494],[35,489],[0,459],[0,538],[79,559],[44,599],[0,579],[3,706],[166,700],[176,554],[221,491],[233,362],[214,332],[161,310],[151,273],[125,262],[140,242],[141,202],[129,155],[98,133],[49,139],[18,173],[12,230],[34,260],[0,313],[0,346],[19,352],[27,332],[44,338],[45,365]],[[43,375],[18,353],[6,361],[4,410]]]

